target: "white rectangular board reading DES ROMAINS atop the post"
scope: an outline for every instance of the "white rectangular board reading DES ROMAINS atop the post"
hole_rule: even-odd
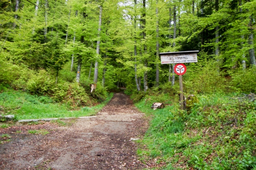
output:
[[[181,52],[171,52],[171,53],[160,53],[161,64],[198,62],[197,61],[197,52],[198,51],[195,51],[195,52],[191,51],[191,52],[190,51],[181,51]]]

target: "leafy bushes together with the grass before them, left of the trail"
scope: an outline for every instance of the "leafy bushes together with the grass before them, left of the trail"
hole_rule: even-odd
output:
[[[99,111],[113,94],[98,83],[90,94],[88,78],[67,63],[59,71],[58,79],[52,70],[31,70],[0,59],[0,114],[14,114],[17,119],[90,116]]]

